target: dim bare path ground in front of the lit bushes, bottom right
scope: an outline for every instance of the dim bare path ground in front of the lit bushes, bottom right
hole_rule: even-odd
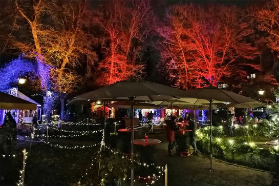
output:
[[[209,171],[210,159],[202,154],[192,157],[167,155],[165,134],[149,134],[162,142],[156,146],[156,163],[168,166],[168,185],[269,185],[270,174],[213,160],[213,171]],[[161,181],[163,185],[163,182]]]

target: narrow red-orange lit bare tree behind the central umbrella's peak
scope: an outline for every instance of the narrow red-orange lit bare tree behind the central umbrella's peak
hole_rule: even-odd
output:
[[[151,16],[149,1],[114,1],[103,6],[97,20],[104,35],[100,36],[104,59],[97,69],[98,85],[109,85],[130,76],[140,76],[142,44],[148,33]]]

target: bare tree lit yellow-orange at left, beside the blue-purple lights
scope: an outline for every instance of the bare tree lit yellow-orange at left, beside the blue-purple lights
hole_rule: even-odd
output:
[[[74,68],[87,61],[90,69],[96,60],[92,35],[82,28],[87,18],[85,1],[37,0],[19,5],[16,0],[15,4],[30,29],[30,35],[17,38],[15,45],[26,54],[42,55],[48,65],[55,67],[51,69],[55,91],[72,92],[81,80]]]

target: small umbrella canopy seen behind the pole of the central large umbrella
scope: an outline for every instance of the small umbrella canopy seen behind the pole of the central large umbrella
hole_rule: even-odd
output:
[[[130,109],[131,102],[130,101],[116,101],[113,104],[109,104],[109,107],[122,108],[122,109]],[[160,109],[159,106],[154,104],[149,104],[146,102],[134,102],[134,109]]]

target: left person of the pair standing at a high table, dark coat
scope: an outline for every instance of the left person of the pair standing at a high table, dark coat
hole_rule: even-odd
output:
[[[171,116],[170,119],[166,120],[166,137],[168,141],[167,152],[169,156],[172,155],[171,153],[175,147],[175,131],[179,130],[179,127],[176,127],[175,120],[175,116]]]

